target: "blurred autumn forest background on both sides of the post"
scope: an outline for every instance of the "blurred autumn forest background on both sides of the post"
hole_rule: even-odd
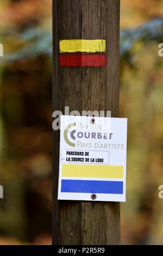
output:
[[[1,245],[51,244],[52,0],[1,0]],[[121,0],[122,244],[163,244],[163,0]]]

